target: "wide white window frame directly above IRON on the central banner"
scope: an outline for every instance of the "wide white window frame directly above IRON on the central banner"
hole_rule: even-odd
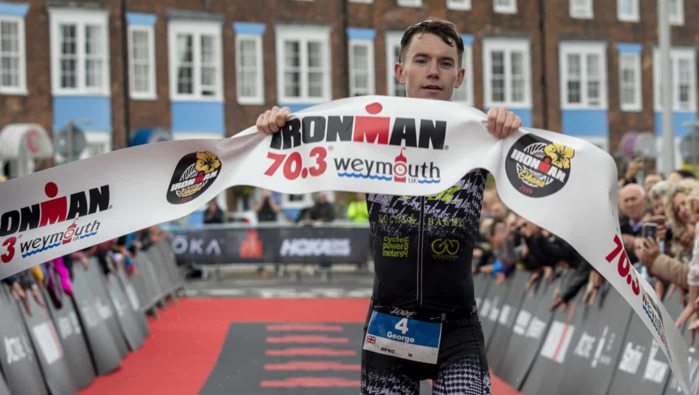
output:
[[[332,70],[332,59],[330,57],[330,27],[324,26],[301,26],[301,25],[277,25],[276,31],[276,55],[277,55],[277,95],[279,102],[284,104],[307,104],[322,103],[331,100],[332,80],[330,73]],[[299,54],[301,69],[301,96],[287,96],[284,94],[284,41],[300,41]],[[322,69],[323,69],[323,92],[322,96],[308,96],[308,51],[309,41],[320,41],[322,44]]]

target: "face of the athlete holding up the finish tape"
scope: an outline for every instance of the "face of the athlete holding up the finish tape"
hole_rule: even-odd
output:
[[[398,82],[405,94],[419,99],[450,100],[454,88],[463,82],[456,45],[449,46],[431,33],[417,33],[410,39],[403,63],[396,63]]]

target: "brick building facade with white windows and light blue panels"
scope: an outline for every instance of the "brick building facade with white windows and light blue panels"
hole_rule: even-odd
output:
[[[696,119],[698,0],[670,1],[675,134]],[[138,131],[231,136],[273,105],[401,94],[402,31],[428,15],[463,35],[454,100],[609,152],[659,133],[656,0],[0,1],[0,127],[77,121],[85,155]],[[659,74],[658,74],[659,75]],[[624,76],[622,80],[621,76]],[[659,135],[658,135],[659,136]],[[659,140],[658,140],[659,141]]]

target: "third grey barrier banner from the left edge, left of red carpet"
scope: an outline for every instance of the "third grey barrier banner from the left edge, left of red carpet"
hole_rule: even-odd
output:
[[[60,284],[60,280],[56,273],[48,271],[48,275],[54,277],[55,284]],[[64,358],[69,366],[69,371],[73,376],[73,382],[78,389],[86,388],[95,379],[94,366],[92,359],[89,357],[85,336],[82,333],[82,327],[78,320],[78,313],[75,312],[75,307],[71,303],[70,296],[63,293],[63,289],[57,286],[57,299],[61,302],[61,308],[57,308],[55,304],[46,296],[46,306],[53,319],[54,326],[61,339],[64,350]]]

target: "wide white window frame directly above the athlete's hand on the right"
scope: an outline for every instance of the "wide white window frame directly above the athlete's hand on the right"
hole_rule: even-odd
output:
[[[493,101],[491,97],[491,52],[505,52],[505,101]],[[512,51],[524,52],[524,100],[512,101],[512,74],[510,67]],[[531,50],[529,41],[524,38],[485,38],[483,40],[483,84],[484,103],[487,108],[503,107],[531,108]]]

